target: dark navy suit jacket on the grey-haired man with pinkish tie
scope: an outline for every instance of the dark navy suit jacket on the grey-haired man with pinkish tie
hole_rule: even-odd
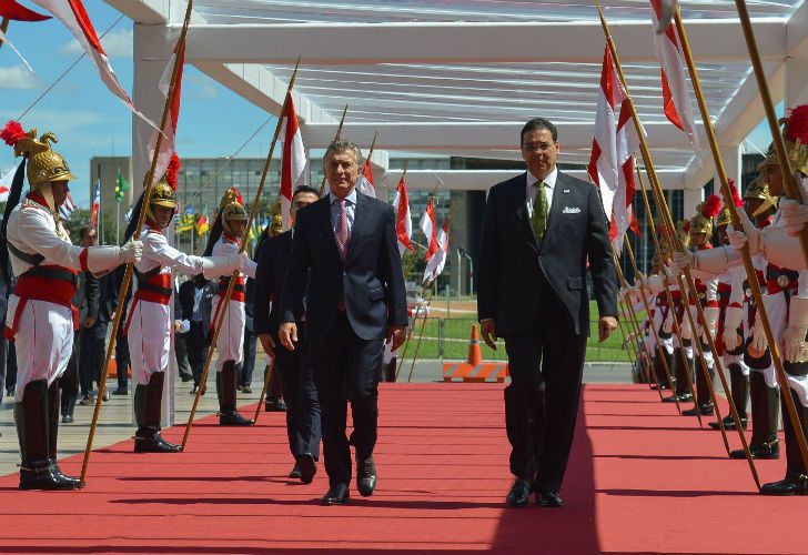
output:
[[[406,289],[387,203],[356,193],[351,244],[343,263],[331,224],[330,195],[297,212],[282,296],[282,322],[297,322],[309,275],[306,331],[322,341],[337,305],[363,340],[384,337],[388,325],[407,325]]]

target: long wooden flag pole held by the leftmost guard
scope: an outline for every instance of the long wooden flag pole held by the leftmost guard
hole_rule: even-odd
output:
[[[188,36],[188,26],[191,22],[191,11],[193,7],[193,0],[188,0],[188,7],[185,8],[185,20],[182,23],[182,31],[180,33],[180,38],[178,40],[178,44],[181,44],[182,51],[185,51],[185,38]],[[141,206],[140,213],[138,214],[138,228],[132,236],[135,239],[140,238],[140,233],[143,230],[143,222],[145,221],[145,203],[149,202],[149,195],[151,194],[152,186],[154,184],[154,171],[156,170],[158,165],[158,155],[160,154],[160,145],[163,142],[163,138],[165,137],[162,133],[162,130],[165,128],[165,123],[169,120],[169,114],[171,113],[171,99],[174,93],[174,85],[176,84],[176,77],[180,72],[180,61],[182,57],[176,57],[176,60],[174,61],[174,67],[171,72],[171,83],[169,85],[169,94],[165,98],[165,105],[163,107],[163,117],[160,121],[160,132],[158,133],[156,144],[154,145],[154,155],[152,157],[151,167],[149,168],[149,173],[147,173],[145,179],[145,190],[143,191],[143,205]],[[115,311],[115,317],[112,322],[112,336],[110,337],[110,343],[107,346],[107,356],[104,357],[104,365],[103,370],[101,372],[101,383],[98,387],[98,397],[95,398],[95,408],[92,414],[92,423],[90,424],[90,434],[87,437],[87,448],[84,450],[84,460],[81,464],[81,486],[84,487],[87,485],[85,478],[87,478],[87,470],[88,465],[90,464],[90,453],[92,452],[92,443],[95,438],[95,430],[98,428],[98,420],[99,414],[101,412],[101,400],[104,395],[104,389],[107,386],[107,376],[109,374],[110,370],[110,359],[112,357],[112,350],[115,346],[115,339],[118,336],[118,329],[121,325],[121,317],[123,315],[122,307],[125,306],[127,301],[127,293],[129,292],[129,285],[132,282],[132,270],[134,268],[134,264],[131,262],[127,264],[127,270],[123,274],[123,282],[121,283],[121,291],[118,293],[118,306],[119,310]]]

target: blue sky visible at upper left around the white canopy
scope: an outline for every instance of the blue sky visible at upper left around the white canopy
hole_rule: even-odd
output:
[[[23,4],[26,2],[22,2]],[[31,4],[28,4],[31,6]],[[84,6],[100,36],[120,12],[100,0]],[[38,11],[41,11],[38,9]],[[8,46],[0,49],[0,125],[17,119],[81,54],[78,42],[54,19],[40,23],[12,21],[8,36],[36,72],[31,75]],[[123,18],[101,39],[118,79],[132,91],[132,21]],[[180,157],[232,154],[266,120],[267,113],[208,78],[185,67],[182,111],[178,130]],[[131,112],[101,82],[87,57],[21,120],[24,129],[53,131],[55,150],[79,181],[71,195],[79,205],[90,204],[90,158],[129,155],[132,150]],[[240,157],[265,157],[273,125],[267,125],[241,151]],[[13,165],[12,149],[0,142],[0,169]],[[112,184],[110,184],[112,186]]]

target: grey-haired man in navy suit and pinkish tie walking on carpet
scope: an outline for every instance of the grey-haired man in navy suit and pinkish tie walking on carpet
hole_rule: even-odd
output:
[[[392,206],[356,191],[362,154],[331,143],[323,170],[331,192],[300,212],[284,284],[280,340],[297,341],[306,287],[306,334],[322,410],[324,505],[349,500],[351,445],[362,496],[376,487],[373,448],[378,421],[378,366],[385,339],[397,349],[407,325],[406,290]],[[345,436],[347,402],[354,431]]]

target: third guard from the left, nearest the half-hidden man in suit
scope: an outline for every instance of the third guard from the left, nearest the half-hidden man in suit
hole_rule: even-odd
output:
[[[242,204],[241,193],[231,188],[224,192],[219,204],[219,216],[213,222],[213,230],[208,238],[209,252],[216,258],[230,258],[239,254],[241,238],[246,226],[246,211]],[[240,383],[241,365],[244,361],[244,310],[245,275],[255,279],[255,262],[244,258],[235,279],[230,302],[225,301],[231,275],[219,279],[218,294],[213,297],[211,316],[211,336],[219,321],[221,311],[226,311],[222,329],[216,339],[216,394],[219,395],[219,424],[222,426],[250,426],[252,421],[235,410],[235,391]]]

